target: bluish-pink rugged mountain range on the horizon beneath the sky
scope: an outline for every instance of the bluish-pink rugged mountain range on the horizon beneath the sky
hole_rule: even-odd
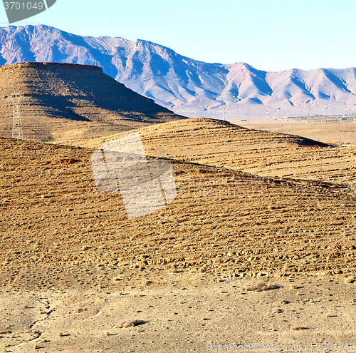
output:
[[[142,39],[78,36],[44,25],[0,28],[0,48],[0,65],[100,66],[127,88],[186,116],[221,116],[221,93],[231,93],[231,118],[356,112],[356,68],[268,72],[247,63],[204,63]]]

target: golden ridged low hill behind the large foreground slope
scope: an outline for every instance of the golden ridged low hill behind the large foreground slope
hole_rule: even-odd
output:
[[[97,147],[122,136],[93,139]],[[226,121],[194,118],[140,129],[149,154],[263,176],[348,183],[356,180],[355,147],[320,143],[285,133],[236,126]]]

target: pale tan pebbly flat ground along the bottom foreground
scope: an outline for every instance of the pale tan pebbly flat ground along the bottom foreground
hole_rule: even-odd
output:
[[[112,271],[81,266],[75,273],[85,270]],[[339,277],[291,275],[255,292],[251,279],[152,268],[136,275],[115,289],[79,289],[75,280],[71,288],[8,287],[0,296],[3,352],[238,351],[248,344],[256,352],[271,344],[289,352],[308,352],[310,344],[313,352],[354,351],[355,284]]]

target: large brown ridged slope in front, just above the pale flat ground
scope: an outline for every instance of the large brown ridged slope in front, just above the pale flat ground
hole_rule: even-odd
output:
[[[45,266],[51,277],[58,266],[75,264],[81,270],[131,264],[216,275],[356,270],[356,199],[342,185],[263,179],[172,160],[176,200],[130,221],[120,194],[95,189],[92,152],[0,139],[3,285],[31,287],[38,280],[28,277],[29,268]],[[60,272],[40,285],[68,277]],[[78,286],[96,281],[86,276]]]

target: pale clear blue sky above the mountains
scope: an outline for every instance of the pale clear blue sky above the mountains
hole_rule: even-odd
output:
[[[283,71],[355,67],[355,14],[355,0],[57,0],[13,25],[145,39],[207,63]]]

